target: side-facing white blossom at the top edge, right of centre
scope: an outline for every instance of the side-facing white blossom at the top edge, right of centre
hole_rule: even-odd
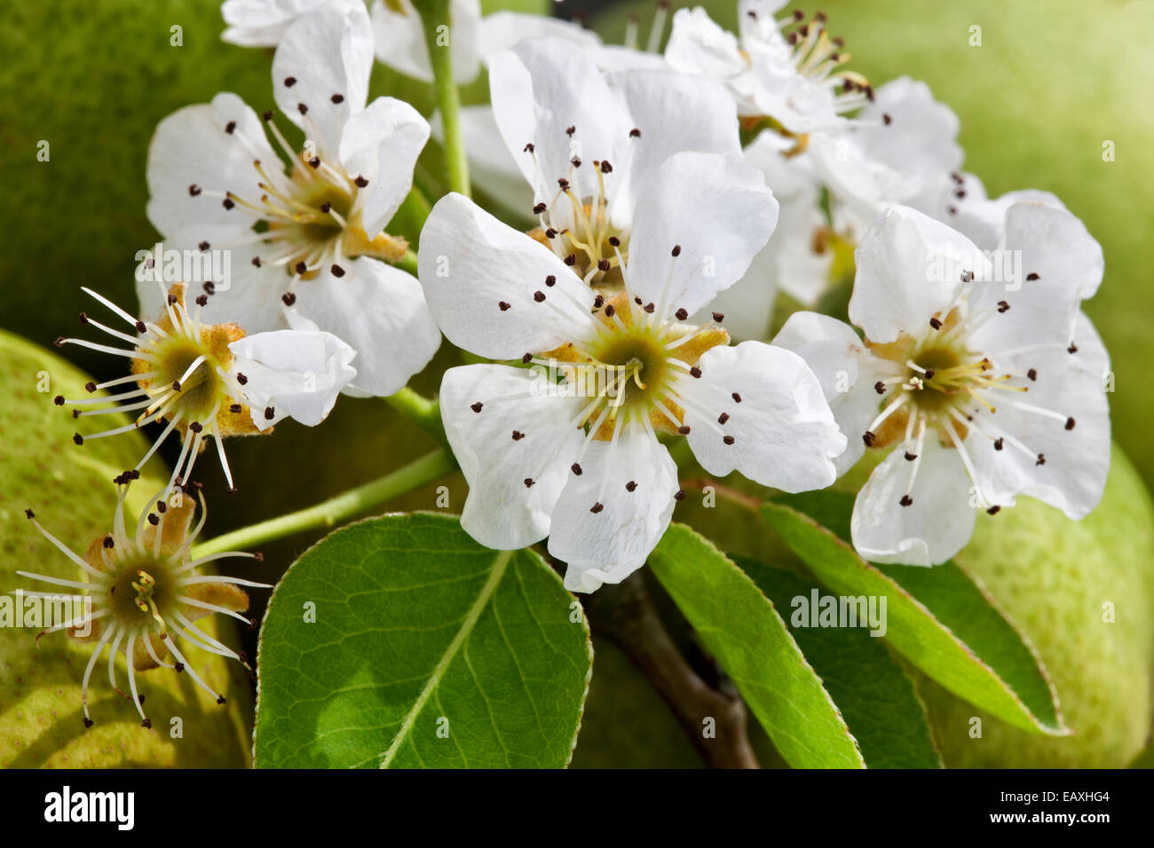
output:
[[[705,9],[679,9],[665,48],[679,70],[721,80],[748,118],[772,118],[804,135],[844,123],[872,90],[860,75],[840,69],[849,60],[840,38],[831,38],[825,15],[803,23],[801,12],[773,18],[785,0],[741,0],[740,38],[718,27]]]

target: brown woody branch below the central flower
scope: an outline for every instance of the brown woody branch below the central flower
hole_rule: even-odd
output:
[[[598,636],[610,639],[665,698],[694,748],[713,768],[758,768],[745,735],[745,704],[707,685],[685,662],[650,600],[640,575],[586,599]],[[705,719],[714,720],[707,738]]]

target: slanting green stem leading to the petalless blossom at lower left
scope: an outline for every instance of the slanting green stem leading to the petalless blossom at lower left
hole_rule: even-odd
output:
[[[314,506],[308,506],[286,516],[271,518],[268,521],[253,524],[218,535],[193,548],[194,557],[222,554],[226,550],[245,550],[257,545],[282,539],[295,533],[304,533],[319,527],[332,527],[340,521],[365,512],[377,504],[384,503],[398,495],[424,486],[448,474],[456,467],[452,455],[444,448],[397,468],[384,476],[372,480],[364,486],[349,489],[336,497],[330,497]]]

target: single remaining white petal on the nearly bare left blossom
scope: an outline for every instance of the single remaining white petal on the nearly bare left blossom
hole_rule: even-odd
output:
[[[349,363],[357,352],[332,333],[277,330],[246,336],[228,345],[233,369],[243,374],[253,423],[268,429],[283,418],[315,427],[340,390],[357,375]],[[272,418],[265,410],[272,408]]]

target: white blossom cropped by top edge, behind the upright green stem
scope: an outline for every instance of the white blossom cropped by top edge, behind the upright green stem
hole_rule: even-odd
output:
[[[433,82],[425,42],[425,25],[412,0],[375,0],[373,37],[376,58],[382,65],[422,82]],[[471,82],[481,69],[479,0],[449,0],[450,30],[440,33],[437,44],[452,51],[452,76],[458,83]]]

